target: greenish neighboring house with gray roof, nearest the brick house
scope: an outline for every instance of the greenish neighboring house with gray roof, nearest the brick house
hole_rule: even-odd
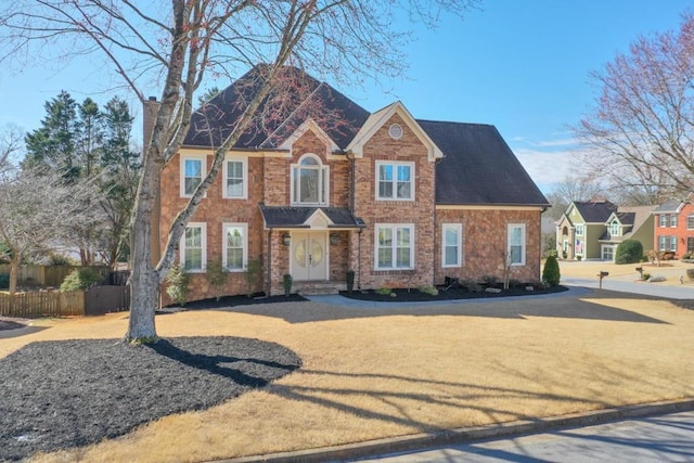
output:
[[[603,259],[600,239],[617,206],[608,201],[574,201],[556,222],[556,250],[564,259]]]

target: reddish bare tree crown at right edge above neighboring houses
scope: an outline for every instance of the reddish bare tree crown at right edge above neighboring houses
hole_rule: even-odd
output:
[[[694,16],[639,37],[602,72],[591,112],[575,128],[591,173],[654,203],[694,188]],[[645,195],[645,200],[643,196]]]

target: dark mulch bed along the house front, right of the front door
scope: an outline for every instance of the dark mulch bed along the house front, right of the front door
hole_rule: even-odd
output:
[[[373,290],[368,291],[352,291],[347,293],[342,291],[339,294],[349,297],[351,299],[360,300],[373,300],[380,303],[415,303],[415,301],[433,301],[433,300],[454,300],[454,299],[479,299],[479,298],[494,298],[494,297],[510,297],[510,296],[537,296],[538,294],[553,294],[568,291],[566,286],[550,286],[547,288],[535,288],[534,291],[527,291],[525,286],[510,287],[509,290],[502,290],[500,293],[488,293],[486,291],[472,292],[466,287],[457,286],[447,291],[439,290],[438,295],[432,296],[426,293],[422,293],[416,288],[412,290],[391,290],[395,296],[377,294]]]

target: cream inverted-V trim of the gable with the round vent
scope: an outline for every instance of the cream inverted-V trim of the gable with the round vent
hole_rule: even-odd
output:
[[[383,107],[373,113],[367,121],[361,126],[361,129],[355,136],[354,140],[347,146],[347,151],[355,153],[355,157],[363,157],[364,144],[376,133],[376,131],[383,127],[390,118],[397,114],[407,124],[407,126],[414,132],[420,141],[426,146],[428,153],[428,159],[435,160],[441,158],[444,153],[436,145],[436,143],[429,138],[428,133],[422,129],[420,124],[412,117],[410,112],[404,105],[396,101],[386,107]]]

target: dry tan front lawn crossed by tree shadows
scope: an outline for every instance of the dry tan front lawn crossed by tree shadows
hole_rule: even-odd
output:
[[[126,323],[123,313],[40,321],[0,338],[0,357],[35,340],[117,338]],[[694,311],[606,291],[426,308],[246,306],[157,317],[157,329],[277,342],[304,365],[213,409],[36,461],[205,461],[694,396]]]

